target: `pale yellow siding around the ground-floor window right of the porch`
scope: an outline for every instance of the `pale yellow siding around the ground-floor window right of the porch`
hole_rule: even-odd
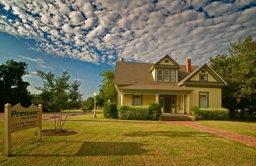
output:
[[[199,93],[209,93],[209,108],[220,108],[221,107],[221,88],[211,87],[193,87],[194,91],[191,91],[190,96],[190,109],[192,107],[199,107]]]

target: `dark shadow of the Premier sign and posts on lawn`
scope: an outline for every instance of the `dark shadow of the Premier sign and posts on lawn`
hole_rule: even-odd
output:
[[[130,156],[147,155],[149,150],[143,149],[146,144],[137,142],[79,142],[79,141],[46,141],[83,143],[75,155],[12,155],[12,156]],[[63,149],[65,152],[65,149]]]

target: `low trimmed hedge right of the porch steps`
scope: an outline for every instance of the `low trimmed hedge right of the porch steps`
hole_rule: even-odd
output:
[[[225,108],[198,108],[191,109],[191,115],[195,116],[196,120],[227,120],[229,110]]]

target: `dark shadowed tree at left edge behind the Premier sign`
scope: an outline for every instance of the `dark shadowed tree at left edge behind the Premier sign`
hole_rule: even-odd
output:
[[[6,103],[11,105],[20,103],[24,107],[31,105],[27,90],[29,82],[22,79],[24,75],[28,75],[28,64],[25,62],[8,59],[0,66],[0,110]]]

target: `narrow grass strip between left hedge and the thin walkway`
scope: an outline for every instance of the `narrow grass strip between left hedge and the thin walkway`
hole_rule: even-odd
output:
[[[164,123],[163,121],[138,121],[138,120],[122,120],[122,119],[106,119],[102,113],[96,114],[97,118],[92,115],[83,115],[77,117],[68,117],[67,121],[105,121],[105,122],[127,122],[127,123]]]

